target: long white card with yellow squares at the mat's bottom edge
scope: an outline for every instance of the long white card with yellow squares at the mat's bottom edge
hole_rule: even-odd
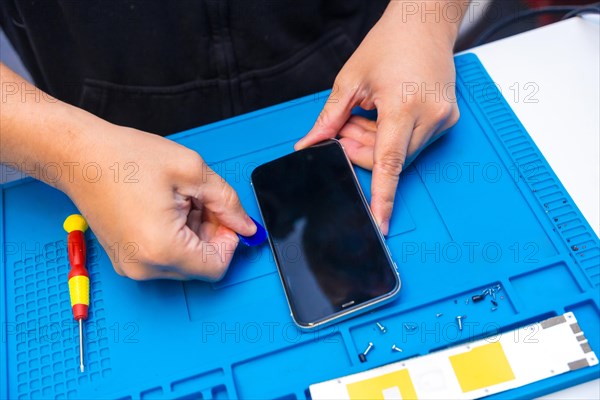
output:
[[[311,385],[313,399],[476,399],[598,364],[569,312],[518,330]],[[522,335],[521,335],[522,337]]]

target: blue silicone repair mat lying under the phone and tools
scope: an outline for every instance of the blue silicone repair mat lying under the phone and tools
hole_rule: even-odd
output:
[[[0,397],[300,399],[312,383],[565,311],[598,354],[598,237],[477,58],[456,64],[461,119],[399,184],[387,238],[402,279],[398,297],[321,331],[295,328],[266,245],[239,249],[218,283],[136,282],[118,276],[88,234],[91,316],[87,369],[79,373],[62,229],[76,209],[37,181],[4,185]],[[291,152],[325,99],[309,96],[173,139],[201,153],[259,219],[252,169]],[[369,197],[370,175],[358,174]],[[502,287],[495,311],[489,297],[466,303],[495,285]],[[462,332],[457,315],[467,316]],[[527,332],[515,340],[534,341]],[[376,349],[360,363],[371,341]],[[392,352],[392,344],[404,351]],[[583,368],[497,397],[530,398],[598,373]]]

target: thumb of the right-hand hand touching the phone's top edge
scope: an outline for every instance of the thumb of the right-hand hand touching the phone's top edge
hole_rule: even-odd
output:
[[[337,90],[329,95],[312,129],[294,145],[296,150],[336,137],[350,118],[352,108],[356,105],[357,90],[339,83],[334,83],[334,88]]]

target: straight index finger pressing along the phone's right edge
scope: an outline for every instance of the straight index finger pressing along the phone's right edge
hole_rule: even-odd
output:
[[[373,153],[371,209],[384,235],[394,207],[398,178],[404,167],[414,119],[399,111],[381,110]]]

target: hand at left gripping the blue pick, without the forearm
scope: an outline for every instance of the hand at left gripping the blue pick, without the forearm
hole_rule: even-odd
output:
[[[221,279],[238,245],[236,232],[256,232],[233,188],[184,146],[108,123],[101,128],[79,149],[81,165],[99,165],[89,169],[91,179],[79,176],[59,187],[117,273],[136,280]]]

